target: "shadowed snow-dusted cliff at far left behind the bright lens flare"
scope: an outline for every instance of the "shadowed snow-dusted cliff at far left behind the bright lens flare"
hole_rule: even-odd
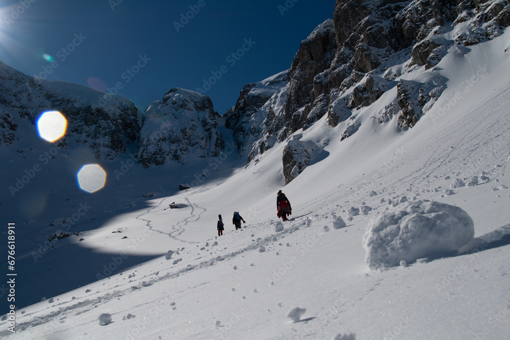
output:
[[[96,159],[113,160],[137,139],[138,108],[125,98],[103,95],[65,82],[39,84],[0,62],[0,144],[11,145],[19,138],[16,130],[22,119],[35,124],[42,112],[56,110],[67,119],[67,132],[56,142],[58,147],[67,148],[71,141],[83,143]]]

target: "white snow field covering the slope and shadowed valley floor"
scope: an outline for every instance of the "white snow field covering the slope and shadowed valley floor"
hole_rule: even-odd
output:
[[[34,256],[44,233],[57,230],[49,223],[65,216],[49,210],[48,228],[39,238],[31,229],[38,221],[17,223],[23,251],[17,253],[22,272],[16,297],[25,306],[16,311],[15,333],[8,330],[9,318],[2,318],[0,336],[510,338],[509,46],[506,32],[471,46],[465,55],[445,57],[433,72],[448,79],[447,88],[405,132],[396,128],[397,116],[383,124],[373,119],[396,88],[356,112],[363,123],[342,142],[342,128],[328,126],[326,117],[298,132],[303,140],[328,139],[329,155],[287,186],[284,143],[248,166],[225,152],[221,164],[126,165],[120,175],[114,171],[129,159],[112,161],[105,166],[104,189],[72,190],[74,207],[60,198],[69,215],[79,203],[82,210],[87,207],[76,223],[78,235]],[[424,68],[416,67],[405,76],[413,79],[421,72]],[[27,192],[35,195],[38,186],[62,191],[58,179],[73,174],[58,169],[48,165],[45,173],[54,171],[35,178]],[[474,183],[474,176],[478,184],[450,187],[456,179]],[[186,183],[190,189],[175,189]],[[275,231],[279,189],[293,214],[283,230]],[[371,270],[362,246],[370,219],[420,200],[461,208],[473,221],[474,238],[468,236],[467,245],[458,244],[459,252],[447,256],[434,256],[431,245],[423,243],[427,259],[396,258],[396,266]],[[3,199],[4,209],[8,201]],[[181,207],[170,209],[172,202]],[[366,215],[349,219],[350,207]],[[235,211],[246,220],[237,231],[230,224]],[[225,222],[222,237],[217,237],[218,214]],[[346,226],[336,229],[338,216]],[[36,241],[22,241],[32,240],[29,236]],[[445,235],[453,241],[462,237]]]

